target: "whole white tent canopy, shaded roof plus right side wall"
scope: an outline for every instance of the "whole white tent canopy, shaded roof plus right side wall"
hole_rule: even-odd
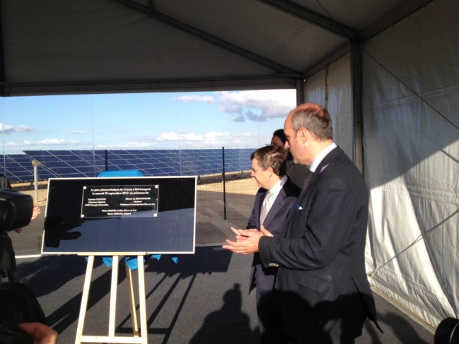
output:
[[[0,94],[296,88],[370,192],[374,290],[459,317],[459,1],[1,1]]]

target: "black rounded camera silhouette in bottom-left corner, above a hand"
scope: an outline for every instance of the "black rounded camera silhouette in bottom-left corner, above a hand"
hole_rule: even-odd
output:
[[[33,337],[18,324],[45,324],[45,313],[33,291],[17,282],[0,283],[0,343],[33,344]]]

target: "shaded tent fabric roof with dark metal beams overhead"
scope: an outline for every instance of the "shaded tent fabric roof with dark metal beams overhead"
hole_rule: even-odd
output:
[[[296,88],[428,2],[1,1],[1,95]]]

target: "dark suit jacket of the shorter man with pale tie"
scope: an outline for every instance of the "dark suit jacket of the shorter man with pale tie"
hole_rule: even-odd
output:
[[[301,189],[298,188],[290,179],[287,179],[284,186],[282,186],[281,191],[277,195],[272,207],[269,209],[265,218],[265,228],[272,232],[274,236],[280,235],[282,229],[284,228],[286,218],[289,215],[289,210],[296,204],[298,195],[300,194]],[[252,213],[250,215],[248,224],[246,228],[257,228],[260,230],[260,212],[262,209],[262,203],[265,199],[267,190],[260,188],[255,195],[255,202],[252,208]],[[263,280],[258,280],[257,283],[267,283],[272,287],[274,285],[274,276],[276,275],[277,268],[263,267],[260,265],[260,257],[257,253],[253,255],[252,262],[252,271],[250,273],[250,290],[255,287],[255,266],[262,269],[263,274],[266,276],[271,276],[270,278],[265,278]],[[265,285],[269,287],[269,285]]]

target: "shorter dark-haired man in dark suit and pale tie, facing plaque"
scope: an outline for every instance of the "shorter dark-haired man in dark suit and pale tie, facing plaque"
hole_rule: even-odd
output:
[[[296,203],[301,189],[286,177],[285,150],[277,146],[262,147],[250,155],[252,177],[260,189],[255,196],[247,228],[280,235],[289,209]],[[269,201],[268,201],[269,199]],[[268,203],[267,203],[268,202]],[[256,288],[257,315],[262,343],[278,344],[281,338],[279,313],[275,307],[273,287],[277,268],[262,266],[260,256],[253,255],[250,291]]]

